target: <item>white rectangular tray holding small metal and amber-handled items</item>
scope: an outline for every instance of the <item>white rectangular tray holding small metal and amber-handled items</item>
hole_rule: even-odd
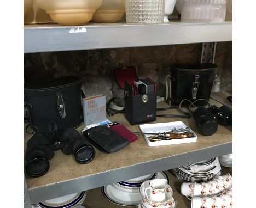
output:
[[[143,133],[169,132],[172,130],[173,127],[175,127],[176,129],[181,129],[181,128],[187,128],[188,126],[186,126],[182,121],[139,125],[139,128]],[[191,132],[193,131],[191,130]],[[196,142],[197,136],[195,133],[194,135],[195,137],[190,137],[185,139],[171,139],[171,140],[162,140],[162,141],[156,141],[156,142],[150,142],[148,140],[148,137],[150,135],[144,135],[144,137],[149,146],[161,146],[161,145],[169,145],[169,144],[183,144],[183,143]]]

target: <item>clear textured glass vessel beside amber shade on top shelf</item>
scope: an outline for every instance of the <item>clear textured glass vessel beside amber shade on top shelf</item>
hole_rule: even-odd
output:
[[[125,0],[127,22],[164,21],[165,0]]]

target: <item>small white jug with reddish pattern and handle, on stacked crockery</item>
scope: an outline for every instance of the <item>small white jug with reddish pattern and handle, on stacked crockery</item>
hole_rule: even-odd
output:
[[[166,179],[154,179],[149,182],[149,187],[145,189],[145,196],[147,200],[153,202],[166,201],[166,185],[168,181]]]

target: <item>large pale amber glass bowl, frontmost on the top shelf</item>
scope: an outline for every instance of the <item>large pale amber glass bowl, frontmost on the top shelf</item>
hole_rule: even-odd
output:
[[[92,19],[102,0],[36,0],[51,19],[60,25],[84,25]]]

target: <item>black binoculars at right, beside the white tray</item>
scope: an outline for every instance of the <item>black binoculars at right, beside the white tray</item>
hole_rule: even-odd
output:
[[[193,117],[205,136],[214,134],[218,130],[218,124],[232,125],[232,109],[225,105],[220,108],[215,105],[208,108],[200,106],[193,112]]]

